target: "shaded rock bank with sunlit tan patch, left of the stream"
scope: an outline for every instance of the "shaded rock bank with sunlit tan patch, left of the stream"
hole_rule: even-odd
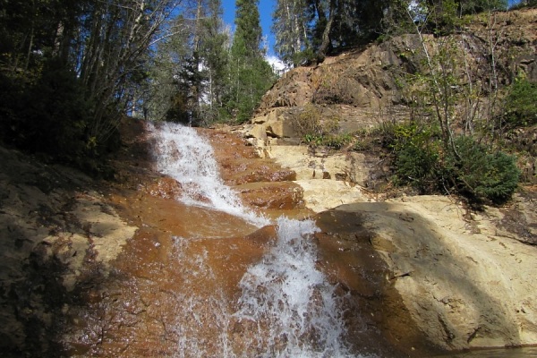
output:
[[[85,175],[0,148],[0,352],[53,352],[91,270],[104,277],[137,230]],[[84,189],[82,189],[84,188]]]

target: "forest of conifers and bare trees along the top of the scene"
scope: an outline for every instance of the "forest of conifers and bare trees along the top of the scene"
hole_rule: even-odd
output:
[[[277,0],[275,51],[289,68],[318,64],[403,33],[455,33],[467,15],[507,11],[507,5]],[[248,121],[278,74],[265,59],[258,2],[236,1],[234,31],[222,16],[220,0],[2,0],[0,141],[102,175],[102,159],[120,145],[125,116],[195,126]],[[441,97],[447,92],[440,86],[448,83],[437,75],[430,72],[427,81],[439,94],[432,100],[439,137],[458,161],[441,113],[453,98]],[[524,79],[512,91],[511,102],[520,102],[510,110],[512,122],[534,123],[527,114],[534,113],[528,98],[536,91]]]

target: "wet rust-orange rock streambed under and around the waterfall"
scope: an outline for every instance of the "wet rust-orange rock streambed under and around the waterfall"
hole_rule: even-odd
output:
[[[292,172],[256,158],[251,148],[229,134],[209,131],[203,135],[213,141],[222,177],[242,195],[248,210],[271,218],[282,213],[311,216],[303,209],[302,192],[290,182]],[[166,176],[147,175],[141,167],[150,166],[150,156],[141,152],[142,147],[137,150],[138,157],[128,152],[122,159],[128,179],[111,189],[107,198],[139,230],[125,244],[107,277],[99,272],[84,274],[80,299],[66,317],[65,354],[269,357],[301,352],[305,356],[388,357],[423,352],[412,328],[400,327],[405,331],[400,336],[386,334],[394,330],[388,316],[400,303],[396,294],[385,289],[386,268],[372,251],[368,233],[359,229],[361,217],[324,213],[317,217],[318,233],[298,246],[293,246],[298,239],[292,239],[288,249],[275,251],[280,246],[277,226],[260,228],[222,211],[175,200],[184,188]],[[300,255],[318,252],[312,263],[294,263],[294,256],[277,261],[293,254],[287,251],[303,247]],[[265,262],[270,260],[277,262]],[[298,273],[277,272],[287,264],[298,268]],[[303,272],[302,265],[312,267]],[[256,277],[259,270],[267,270],[268,276]],[[328,323],[310,317],[322,312],[300,313],[294,303],[284,303],[289,294],[267,292],[271,284],[286,290],[287,281],[296,281],[297,290],[304,289],[301,275],[325,277],[305,288],[313,290],[308,307],[319,304],[321,309],[316,310],[326,311],[325,306],[336,304],[328,307]],[[247,287],[256,280],[263,282]],[[261,302],[267,297],[268,302]],[[288,320],[277,317],[280,312],[301,317]],[[405,323],[404,319],[396,321]],[[290,330],[282,327],[286,325]],[[308,327],[294,327],[301,325]],[[294,337],[293,332],[299,334]],[[294,340],[299,343],[294,351],[289,350]]]

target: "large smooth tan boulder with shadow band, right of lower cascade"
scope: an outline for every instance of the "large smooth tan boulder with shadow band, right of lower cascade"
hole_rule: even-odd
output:
[[[355,203],[424,337],[445,349],[537,342],[537,247],[499,234],[494,210],[465,221],[448,198]]]

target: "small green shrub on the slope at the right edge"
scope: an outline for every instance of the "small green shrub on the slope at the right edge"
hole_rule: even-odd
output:
[[[511,85],[506,99],[508,124],[529,126],[537,124],[537,83],[519,75]]]

